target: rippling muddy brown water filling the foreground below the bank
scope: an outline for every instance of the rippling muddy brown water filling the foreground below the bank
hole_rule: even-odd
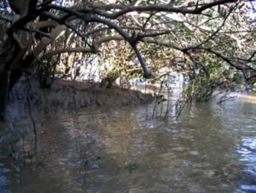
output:
[[[152,106],[39,115],[37,158],[21,182],[2,161],[0,192],[256,192],[254,101],[189,104],[179,120]]]

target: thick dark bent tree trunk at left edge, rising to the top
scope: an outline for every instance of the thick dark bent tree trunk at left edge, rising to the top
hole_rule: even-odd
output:
[[[35,22],[37,15],[37,1],[17,1],[9,0],[11,9],[20,15],[19,19],[11,21],[7,29],[7,39],[0,45],[0,119],[5,116],[8,93],[17,83],[22,73],[33,73],[37,69],[37,63],[33,63],[35,58],[47,48],[48,45],[58,39],[60,34],[67,29],[65,25],[57,22],[45,22],[41,18]],[[43,3],[47,5],[47,0]],[[43,4],[41,4],[43,5]],[[35,13],[35,14],[34,14]],[[29,24],[29,25],[28,25]],[[40,31],[51,27],[50,31]],[[29,31],[24,29],[29,29]],[[30,31],[34,30],[34,33]],[[35,33],[42,37],[35,43]],[[38,38],[38,37],[37,37]]]

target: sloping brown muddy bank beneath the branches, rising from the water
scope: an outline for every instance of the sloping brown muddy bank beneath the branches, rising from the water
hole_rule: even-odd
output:
[[[153,92],[100,87],[99,83],[57,79],[49,89],[42,89],[35,78],[22,77],[9,94],[7,116],[25,116],[29,103],[33,112],[54,112],[76,108],[105,106],[115,108],[153,100]]]

